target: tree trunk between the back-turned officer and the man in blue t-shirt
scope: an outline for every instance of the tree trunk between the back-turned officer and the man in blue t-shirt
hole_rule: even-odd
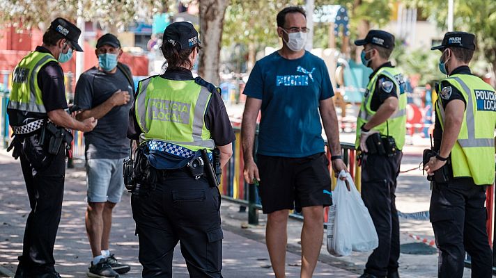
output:
[[[219,60],[224,14],[229,0],[200,0],[200,51],[198,74],[219,85]]]

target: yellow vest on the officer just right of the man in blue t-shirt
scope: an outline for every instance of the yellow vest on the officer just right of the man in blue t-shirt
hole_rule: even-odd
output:
[[[377,79],[379,76],[387,76],[391,79],[396,87],[396,94],[398,94],[398,109],[396,112],[389,117],[389,120],[375,126],[373,130],[379,131],[383,136],[392,136],[396,141],[396,147],[401,150],[403,145],[405,145],[405,135],[406,135],[406,102],[407,97],[405,90],[403,88],[403,76],[394,67],[381,67],[372,76],[369,84],[367,85],[364,99],[362,100],[362,106],[360,107],[360,112],[357,118],[357,138],[355,140],[355,147],[360,145],[360,134],[362,133],[361,127],[371,120],[376,111],[371,109],[371,100],[373,93],[375,91],[375,84],[377,84]],[[401,82],[400,82],[401,81]],[[389,131],[389,132],[388,132]]]

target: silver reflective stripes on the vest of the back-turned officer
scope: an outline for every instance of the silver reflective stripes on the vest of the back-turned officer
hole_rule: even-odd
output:
[[[166,140],[165,138],[145,138],[146,134],[150,132],[148,129],[148,126],[146,124],[146,117],[153,116],[151,113],[148,113],[146,111],[146,95],[147,95],[147,89],[148,85],[150,85],[150,82],[152,81],[154,77],[150,79],[145,79],[144,81],[141,81],[141,84],[139,86],[139,95],[137,96],[137,117],[139,117],[138,124],[141,127],[141,130],[144,133],[141,133],[140,135],[140,142],[145,142],[146,140],[160,140],[163,142],[169,142],[171,144],[175,145],[182,145],[182,146],[194,146],[194,147],[205,147],[207,149],[213,149],[215,147],[215,142],[212,139],[203,139],[202,134],[203,134],[203,127],[204,127],[204,118],[206,113],[206,108],[208,106],[208,101],[210,99],[210,91],[206,87],[200,86],[200,91],[199,95],[196,99],[196,102],[194,104],[194,115],[193,115],[193,122],[192,122],[192,138],[191,141],[177,141],[177,140]],[[161,78],[161,77],[157,77]],[[149,120],[150,120],[149,119]]]

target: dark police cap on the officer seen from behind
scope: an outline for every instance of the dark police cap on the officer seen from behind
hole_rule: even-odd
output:
[[[165,28],[164,41],[179,44],[180,49],[200,47],[198,32],[189,22],[174,22]],[[200,47],[201,48],[201,47]]]

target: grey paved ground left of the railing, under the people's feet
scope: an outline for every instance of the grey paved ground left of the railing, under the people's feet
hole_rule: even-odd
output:
[[[78,165],[77,165],[78,166]],[[84,171],[82,167],[68,170],[59,233],[55,245],[56,269],[62,277],[86,277],[91,252],[84,229],[86,209]],[[22,253],[22,235],[29,213],[20,164],[0,154],[0,266],[7,275],[15,272],[17,256]],[[234,205],[224,202],[222,211],[231,212]],[[239,210],[238,207],[236,209]],[[237,212],[235,214],[238,214]],[[224,218],[228,216],[223,215]],[[246,219],[246,218],[244,218]],[[236,220],[238,221],[238,220]],[[265,245],[250,237],[243,237],[240,224],[224,221],[224,277],[268,277],[272,275]],[[123,277],[141,277],[137,261],[138,242],[134,236],[134,221],[130,211],[130,195],[116,206],[111,232],[111,250],[122,261],[130,263],[132,270]],[[288,277],[299,277],[300,256],[297,250],[286,257]],[[174,277],[188,277],[185,261],[176,248]],[[0,273],[1,273],[0,269]],[[315,277],[356,277],[352,272],[326,263],[318,263]],[[2,277],[0,275],[0,277]]]

